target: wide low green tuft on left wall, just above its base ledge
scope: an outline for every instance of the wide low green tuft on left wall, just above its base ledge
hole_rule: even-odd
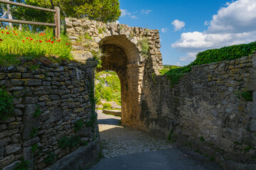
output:
[[[71,136],[71,137],[62,137],[60,140],[58,140],[58,146],[61,148],[66,148],[66,147],[75,147],[77,145],[80,145],[81,138],[76,137],[76,136]]]

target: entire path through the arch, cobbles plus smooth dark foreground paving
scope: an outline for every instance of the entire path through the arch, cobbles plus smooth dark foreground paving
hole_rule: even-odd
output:
[[[102,154],[90,170],[220,170],[201,154],[173,147],[145,132],[124,128],[120,118],[98,111]]]

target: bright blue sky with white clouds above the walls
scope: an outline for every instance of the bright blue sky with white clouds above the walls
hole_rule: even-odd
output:
[[[164,64],[197,52],[256,40],[256,0],[119,0],[119,23],[158,29]]]

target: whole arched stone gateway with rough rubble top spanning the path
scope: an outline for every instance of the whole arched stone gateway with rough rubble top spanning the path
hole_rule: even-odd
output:
[[[141,115],[144,74],[162,69],[159,30],[66,18],[67,33],[73,41],[75,60],[95,66],[95,54],[102,64],[97,72],[117,72],[122,89],[122,124],[144,126]]]

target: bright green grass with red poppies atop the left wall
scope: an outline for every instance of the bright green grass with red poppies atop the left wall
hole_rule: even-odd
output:
[[[0,28],[0,65],[18,65],[22,59],[58,57],[73,60],[67,35],[56,40],[53,33],[32,33],[28,30]]]

